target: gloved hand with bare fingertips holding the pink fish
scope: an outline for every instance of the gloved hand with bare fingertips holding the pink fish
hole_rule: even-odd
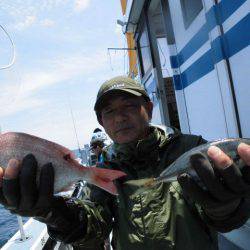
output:
[[[22,163],[11,159],[5,171],[0,170],[0,202],[12,213],[29,217],[47,217],[53,203],[54,170],[45,164],[36,184],[37,161],[32,154]]]

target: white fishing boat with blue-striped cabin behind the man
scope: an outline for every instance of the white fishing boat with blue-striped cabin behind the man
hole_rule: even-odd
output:
[[[141,80],[154,103],[152,122],[207,140],[250,137],[250,1],[121,0],[121,5],[118,23],[128,46],[120,49],[128,51],[129,75]],[[249,249],[249,236],[250,220],[220,234],[219,249]],[[45,225],[30,219],[2,249],[49,244]],[[69,247],[60,244],[54,249]]]

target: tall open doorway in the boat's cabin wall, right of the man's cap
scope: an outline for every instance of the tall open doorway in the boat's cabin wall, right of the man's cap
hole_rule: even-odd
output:
[[[180,128],[172,78],[173,71],[170,64],[170,53],[168,46],[168,43],[174,43],[174,37],[171,28],[172,23],[166,1],[152,1],[149,5],[147,15],[149,20],[149,32],[152,37],[152,43],[155,44],[155,50],[153,53],[155,55],[155,58],[159,58],[159,60],[155,60],[155,65],[158,69],[161,69],[162,72],[163,81],[159,84],[162,84],[162,87],[165,89],[165,100],[168,109],[168,120],[171,126]],[[155,92],[157,93],[157,90],[155,90]],[[159,95],[153,95],[153,98],[154,97],[158,98]],[[161,98],[163,97],[161,96]],[[153,102],[156,103],[154,99]],[[153,114],[153,116],[155,115]],[[160,119],[156,119],[156,116],[153,118],[154,122],[155,120],[160,121]]]

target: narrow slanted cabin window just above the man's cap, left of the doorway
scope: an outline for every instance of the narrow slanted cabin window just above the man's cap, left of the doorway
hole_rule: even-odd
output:
[[[143,77],[152,65],[148,32],[145,22],[140,37],[138,39],[138,52],[140,58],[141,75]]]

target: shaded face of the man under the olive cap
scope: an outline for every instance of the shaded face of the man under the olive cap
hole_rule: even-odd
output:
[[[111,94],[101,110],[102,125],[116,143],[143,139],[148,133],[153,104],[143,97]]]

